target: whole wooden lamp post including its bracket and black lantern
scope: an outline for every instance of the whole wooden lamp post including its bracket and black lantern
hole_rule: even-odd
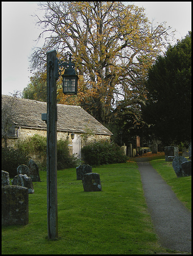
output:
[[[48,238],[58,237],[57,212],[57,101],[56,80],[61,75],[59,67],[66,67],[63,78],[63,93],[77,94],[78,76],[74,63],[61,62],[56,57],[56,50],[47,52],[47,114],[42,120],[47,122],[47,221]]]

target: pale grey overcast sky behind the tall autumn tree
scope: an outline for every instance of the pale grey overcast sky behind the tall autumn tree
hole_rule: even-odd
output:
[[[167,22],[176,39],[191,31],[191,2],[128,3],[144,7],[151,22]],[[2,2],[2,94],[23,91],[30,82],[29,57],[41,32],[31,16],[37,8],[38,2]]]

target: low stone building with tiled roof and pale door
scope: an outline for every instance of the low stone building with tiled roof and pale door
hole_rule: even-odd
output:
[[[2,106],[11,98],[2,95]],[[41,120],[41,114],[47,113],[47,102],[16,98],[13,108],[15,114],[8,135],[8,146],[15,147],[18,139],[35,134],[47,136],[47,124]],[[75,135],[73,140],[71,133]],[[78,158],[81,158],[81,147],[85,140],[110,139],[111,135],[106,127],[80,106],[57,104],[57,139],[68,139],[70,152]],[[4,144],[2,139],[2,146]]]

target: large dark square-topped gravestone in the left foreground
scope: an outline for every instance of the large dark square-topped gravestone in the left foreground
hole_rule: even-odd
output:
[[[21,186],[2,186],[2,225],[27,225],[28,223],[28,188]]]

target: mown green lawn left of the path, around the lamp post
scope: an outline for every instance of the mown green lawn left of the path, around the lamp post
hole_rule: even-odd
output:
[[[2,228],[2,254],[166,252],[148,214],[137,163],[93,168],[102,191],[84,192],[76,169],[57,172],[58,239],[47,239],[46,172],[29,194],[29,224]]]

